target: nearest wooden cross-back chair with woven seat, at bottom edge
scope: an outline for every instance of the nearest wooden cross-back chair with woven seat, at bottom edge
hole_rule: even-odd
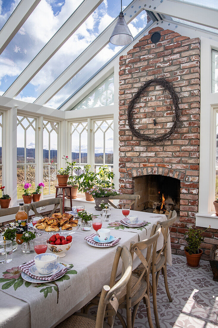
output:
[[[122,294],[122,291],[126,287],[131,277],[132,268],[133,268],[132,256],[129,250],[127,249],[127,247],[118,246],[114,258],[113,268],[112,268],[113,277],[116,277],[120,258],[123,263],[122,277],[116,284],[113,284],[112,287],[109,287],[107,285],[103,286],[100,295],[100,300],[99,300],[97,317],[89,316],[83,313],[74,313],[72,316],[70,316],[69,318],[62,321],[59,325],[57,325],[56,328],[65,328],[65,327],[112,328],[113,327],[114,319],[118,309],[119,296]],[[106,306],[107,306],[107,311],[105,312]],[[104,321],[105,317],[108,318],[108,323]]]

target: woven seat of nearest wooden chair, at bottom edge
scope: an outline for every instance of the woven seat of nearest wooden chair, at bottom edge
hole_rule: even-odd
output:
[[[95,325],[95,318],[91,318],[91,316],[82,313],[76,313],[66,318],[55,328],[95,328]],[[104,322],[103,327],[110,328],[106,322]]]

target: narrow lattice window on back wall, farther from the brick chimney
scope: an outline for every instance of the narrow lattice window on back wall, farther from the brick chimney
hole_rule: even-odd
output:
[[[71,151],[72,161],[76,161],[80,167],[87,164],[88,153],[88,123],[71,123]]]

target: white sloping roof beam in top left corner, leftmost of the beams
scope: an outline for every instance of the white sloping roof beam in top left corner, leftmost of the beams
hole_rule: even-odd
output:
[[[0,54],[26,22],[41,0],[21,0],[0,31]]]

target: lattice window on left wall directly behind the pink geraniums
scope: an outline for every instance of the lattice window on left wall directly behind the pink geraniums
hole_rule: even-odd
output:
[[[31,191],[35,191],[36,177],[36,119],[17,116],[17,199],[23,195],[23,184],[32,184]]]

